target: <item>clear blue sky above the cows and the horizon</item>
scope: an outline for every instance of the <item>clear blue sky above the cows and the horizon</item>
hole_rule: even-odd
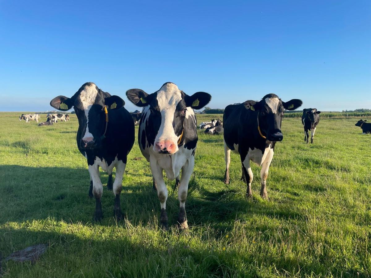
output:
[[[276,93],[371,108],[371,1],[0,1],[0,110],[51,109],[85,82],[174,82],[212,108]]]

